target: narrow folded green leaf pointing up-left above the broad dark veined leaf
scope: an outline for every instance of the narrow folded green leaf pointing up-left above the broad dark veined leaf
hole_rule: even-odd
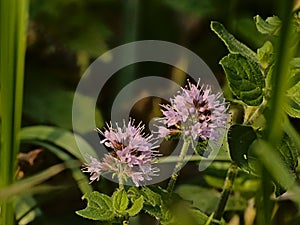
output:
[[[241,54],[247,59],[251,59],[256,62],[256,54],[249,47],[238,41],[232,34],[230,34],[225,27],[216,21],[212,21],[210,24],[212,31],[214,31],[219,38],[225,43],[230,53]]]

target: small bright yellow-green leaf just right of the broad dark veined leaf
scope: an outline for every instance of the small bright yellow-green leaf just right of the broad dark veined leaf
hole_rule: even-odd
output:
[[[257,59],[262,68],[268,68],[274,61],[274,49],[270,41],[266,41],[264,45],[257,49]]]

